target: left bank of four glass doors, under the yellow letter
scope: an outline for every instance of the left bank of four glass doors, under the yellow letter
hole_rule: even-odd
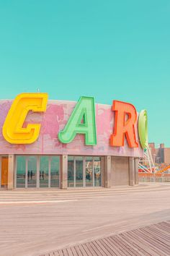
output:
[[[17,155],[16,187],[60,187],[59,155]]]

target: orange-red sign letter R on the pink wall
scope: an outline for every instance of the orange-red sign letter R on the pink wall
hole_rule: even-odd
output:
[[[110,145],[121,147],[124,145],[125,136],[130,148],[138,148],[135,138],[135,121],[137,112],[130,103],[113,101],[112,111],[115,111],[114,133],[110,136]]]

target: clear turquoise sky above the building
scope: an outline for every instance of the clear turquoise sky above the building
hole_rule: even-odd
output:
[[[170,146],[170,1],[1,0],[0,88],[133,103]]]

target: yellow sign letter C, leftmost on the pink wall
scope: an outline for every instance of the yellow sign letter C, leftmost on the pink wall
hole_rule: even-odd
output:
[[[5,140],[12,144],[31,144],[37,140],[40,124],[28,124],[23,128],[29,111],[44,112],[48,93],[21,93],[14,99],[3,127]]]

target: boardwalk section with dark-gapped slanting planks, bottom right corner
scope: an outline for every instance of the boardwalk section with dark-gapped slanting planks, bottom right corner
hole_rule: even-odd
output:
[[[170,255],[170,221],[146,226],[40,256]]]

